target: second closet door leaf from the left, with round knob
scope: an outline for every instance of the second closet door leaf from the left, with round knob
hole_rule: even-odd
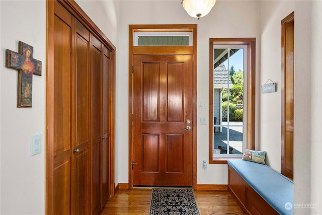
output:
[[[90,212],[90,32],[75,21],[72,103],[72,214]]]

